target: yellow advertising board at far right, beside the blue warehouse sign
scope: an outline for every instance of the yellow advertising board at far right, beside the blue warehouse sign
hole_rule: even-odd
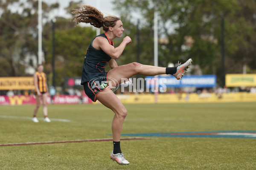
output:
[[[227,87],[256,87],[256,74],[226,74]]]

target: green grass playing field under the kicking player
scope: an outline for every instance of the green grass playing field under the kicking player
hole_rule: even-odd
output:
[[[256,130],[255,103],[129,104],[122,133]],[[103,105],[48,105],[50,119],[29,118],[34,105],[0,106],[0,144],[111,139]],[[9,117],[8,117],[9,116]],[[121,136],[127,138],[131,136]],[[137,136],[138,137],[138,136]],[[142,136],[143,137],[143,136]],[[145,137],[145,136],[144,136]],[[112,141],[0,147],[1,170],[256,170],[256,139],[151,137],[123,140],[130,162],[110,160]]]

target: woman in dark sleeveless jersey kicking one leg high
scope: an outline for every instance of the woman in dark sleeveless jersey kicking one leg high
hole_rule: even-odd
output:
[[[124,31],[120,18],[112,15],[104,17],[101,11],[87,5],[75,9],[72,13],[77,14],[72,18],[76,25],[90,23],[96,28],[103,27],[105,31],[105,33],[96,36],[87,49],[84,57],[81,85],[84,86],[85,94],[92,101],[96,102],[98,100],[115,113],[112,122],[113,151],[110,157],[118,164],[129,164],[120,149],[122,125],[127,111],[118,97],[111,91],[111,86],[118,85],[135,74],[144,76],[173,74],[177,79],[181,79],[189,65],[191,65],[192,59],[188,59],[178,67],[164,68],[142,65],[137,62],[118,66],[115,59],[119,58],[125,46],[131,43],[131,38],[126,36],[118,47],[113,45],[113,39],[121,37]],[[107,72],[105,71],[106,63],[111,68]]]

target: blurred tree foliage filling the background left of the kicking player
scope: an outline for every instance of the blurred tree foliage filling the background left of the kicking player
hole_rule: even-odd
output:
[[[80,2],[81,3],[81,2]],[[0,2],[0,76],[25,76],[23,59],[27,55],[38,57],[38,1],[19,0]],[[19,10],[15,6],[19,6]],[[58,3],[42,4],[43,8],[43,53],[44,71],[48,83],[52,80],[52,18],[51,11],[58,8]],[[70,13],[77,3],[70,2]],[[13,9],[12,9],[13,8]],[[96,35],[91,27],[74,27],[70,19],[56,18],[55,23],[55,72],[56,85],[63,86],[65,77],[80,77],[84,55],[90,41]],[[24,65],[25,64],[25,65]],[[35,66],[36,67],[36,66]]]

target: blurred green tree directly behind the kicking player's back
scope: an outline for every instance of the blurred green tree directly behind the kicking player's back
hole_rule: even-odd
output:
[[[46,24],[49,30],[51,23]],[[96,35],[91,27],[74,27],[70,19],[56,18],[55,23],[55,76],[56,86],[64,87],[65,77],[81,77],[84,56],[87,48]],[[50,31],[51,32],[51,31]],[[48,32],[48,35],[49,34]],[[49,36],[46,45],[46,71],[52,73],[52,37]],[[49,76],[51,77],[51,76]],[[49,78],[48,78],[49,79]]]

